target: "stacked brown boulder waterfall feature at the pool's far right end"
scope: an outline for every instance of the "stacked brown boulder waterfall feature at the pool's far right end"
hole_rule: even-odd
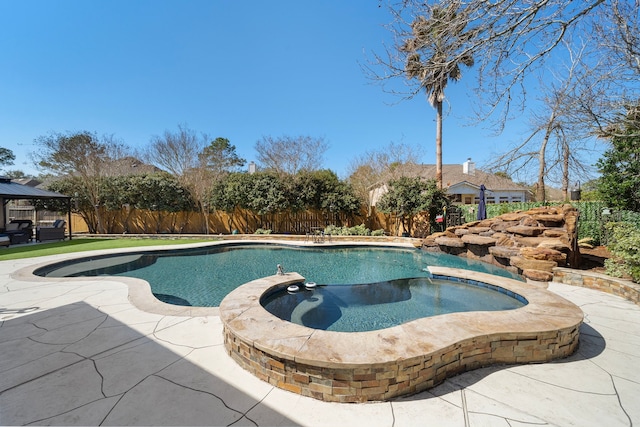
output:
[[[577,267],[578,211],[544,206],[448,227],[424,239],[423,249],[478,259],[536,280],[553,280],[555,267]]]

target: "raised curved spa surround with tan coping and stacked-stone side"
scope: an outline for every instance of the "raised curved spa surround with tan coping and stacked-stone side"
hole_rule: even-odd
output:
[[[503,286],[529,303],[517,310],[452,313],[379,331],[341,333],[281,320],[260,305],[295,273],[250,282],[220,305],[229,355],[258,378],[332,402],[386,400],[433,387],[471,369],[546,362],[578,345],[582,311],[539,286],[483,273],[432,268],[462,281]]]

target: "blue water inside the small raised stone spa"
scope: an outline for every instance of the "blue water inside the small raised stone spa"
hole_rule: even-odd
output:
[[[460,281],[416,278],[313,290],[301,285],[298,292],[281,289],[266,295],[261,304],[283,320],[310,328],[364,332],[440,314],[512,310],[526,300]]]

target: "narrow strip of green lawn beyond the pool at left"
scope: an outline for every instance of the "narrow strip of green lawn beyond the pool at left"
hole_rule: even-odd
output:
[[[38,245],[13,245],[0,248],[0,261],[46,255],[93,251],[97,249],[132,248],[138,246],[183,245],[211,242],[211,239],[73,239]]]

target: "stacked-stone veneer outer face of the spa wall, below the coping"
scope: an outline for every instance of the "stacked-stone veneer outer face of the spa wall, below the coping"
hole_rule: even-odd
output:
[[[422,357],[361,367],[319,367],[281,359],[225,330],[225,345],[243,368],[278,388],[328,402],[366,402],[427,390],[446,378],[497,363],[548,362],[570,355],[577,328],[466,340]]]

